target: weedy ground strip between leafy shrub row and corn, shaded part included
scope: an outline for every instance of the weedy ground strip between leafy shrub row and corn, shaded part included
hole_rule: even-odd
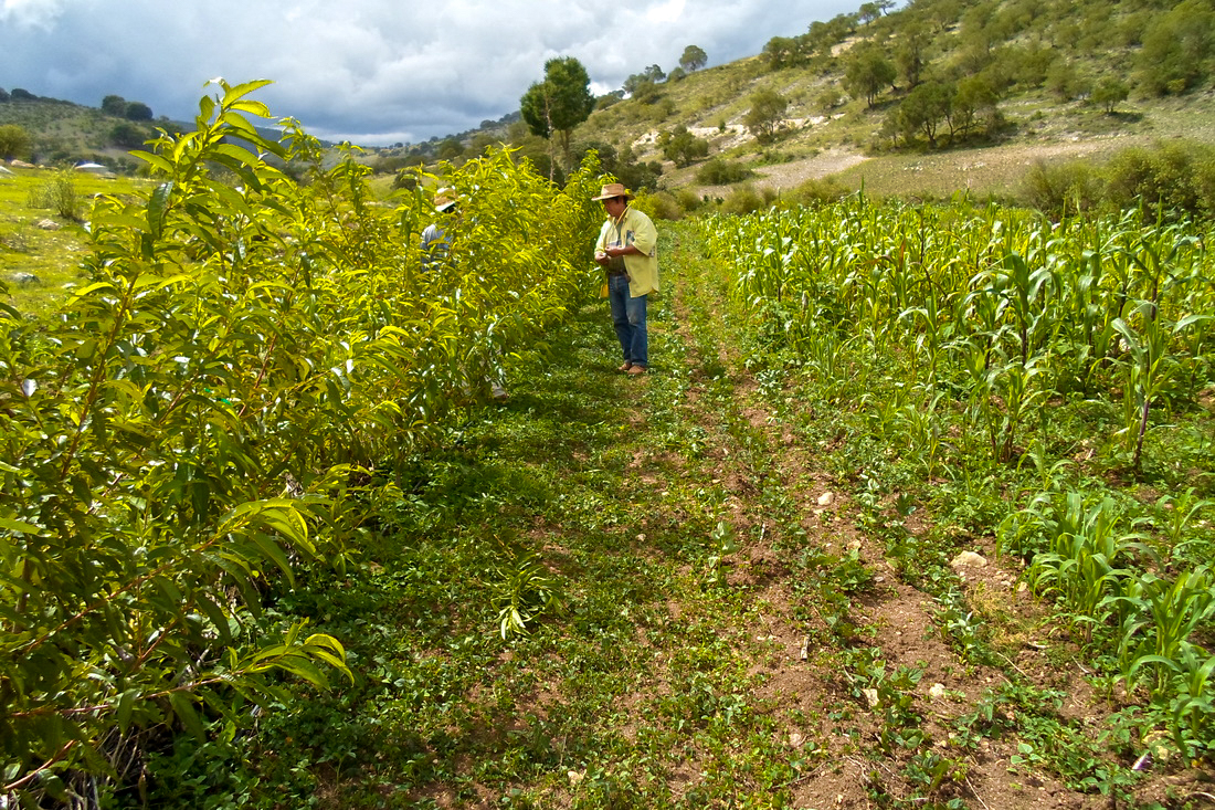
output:
[[[320,763],[324,806],[994,810],[1200,792],[1130,770],[1138,741],[1104,722],[1079,651],[982,538],[966,545],[983,564],[953,547],[917,569],[931,576],[891,564],[863,471],[833,452],[840,414],[748,365],[727,269],[689,229],[661,249],[650,373],[615,371],[599,302],[515,366],[508,403],[400,471],[391,547],[313,608],[364,677],[312,699],[278,760]],[[928,536],[916,505],[877,506],[906,542]]]

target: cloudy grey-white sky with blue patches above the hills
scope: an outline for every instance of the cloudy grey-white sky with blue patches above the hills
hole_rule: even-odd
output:
[[[730,62],[860,1],[0,0],[0,88],[191,120],[209,79],[271,79],[255,97],[318,137],[418,142],[516,111],[555,56],[603,94],[688,45]]]

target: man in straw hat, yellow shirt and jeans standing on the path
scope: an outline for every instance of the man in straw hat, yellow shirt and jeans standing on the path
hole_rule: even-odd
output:
[[[645,300],[659,292],[659,231],[649,216],[629,208],[632,198],[620,182],[609,182],[593,197],[608,212],[595,243],[595,261],[608,271],[612,326],[625,354],[620,371],[644,375],[650,366]]]

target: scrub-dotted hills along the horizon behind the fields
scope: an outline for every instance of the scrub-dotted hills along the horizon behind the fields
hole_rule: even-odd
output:
[[[912,0],[774,36],[763,52],[708,69],[659,66],[597,101],[572,133],[639,190],[769,198],[832,176],[885,195],[1016,196],[1027,171],[1129,146],[1215,144],[1215,12],[1202,0]],[[767,117],[759,101],[775,105]],[[55,100],[0,103],[0,124],[33,135],[51,163],[135,170],[165,119],[131,122]],[[518,111],[484,129],[369,150],[385,175],[459,163],[507,142],[547,173],[550,148]],[[683,148],[682,148],[683,147]],[[699,151],[697,151],[699,150]],[[706,171],[706,164],[710,170]],[[1036,202],[1036,201],[1030,201]]]

